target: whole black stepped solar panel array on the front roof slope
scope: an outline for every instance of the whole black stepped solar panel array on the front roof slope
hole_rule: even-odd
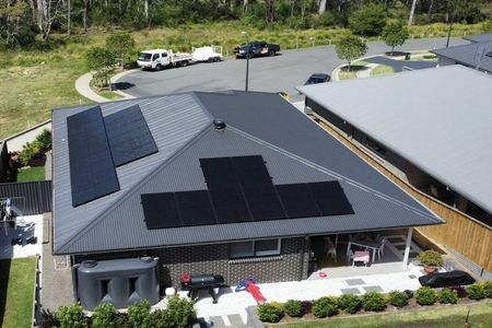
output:
[[[353,214],[338,181],[274,186],[260,155],[200,159],[208,190],[141,195],[148,229]]]

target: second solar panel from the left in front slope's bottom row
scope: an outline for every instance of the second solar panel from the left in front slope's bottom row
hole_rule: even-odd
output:
[[[209,191],[183,191],[175,194],[183,225],[216,224]]]

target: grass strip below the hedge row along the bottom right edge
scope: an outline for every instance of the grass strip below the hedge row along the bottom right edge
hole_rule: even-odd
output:
[[[479,303],[469,306],[470,327],[492,327],[492,302]],[[407,313],[393,313],[374,316],[360,316],[355,318],[331,318],[318,321],[280,325],[281,327],[300,328],[462,328],[468,306],[449,306],[433,309],[419,308]]]

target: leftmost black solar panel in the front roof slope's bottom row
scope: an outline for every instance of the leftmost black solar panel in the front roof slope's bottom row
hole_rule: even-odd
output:
[[[174,192],[143,194],[143,214],[147,229],[181,226]]]

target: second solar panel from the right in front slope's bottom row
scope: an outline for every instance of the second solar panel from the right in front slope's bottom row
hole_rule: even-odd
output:
[[[290,219],[321,216],[307,184],[278,185],[276,188]]]

